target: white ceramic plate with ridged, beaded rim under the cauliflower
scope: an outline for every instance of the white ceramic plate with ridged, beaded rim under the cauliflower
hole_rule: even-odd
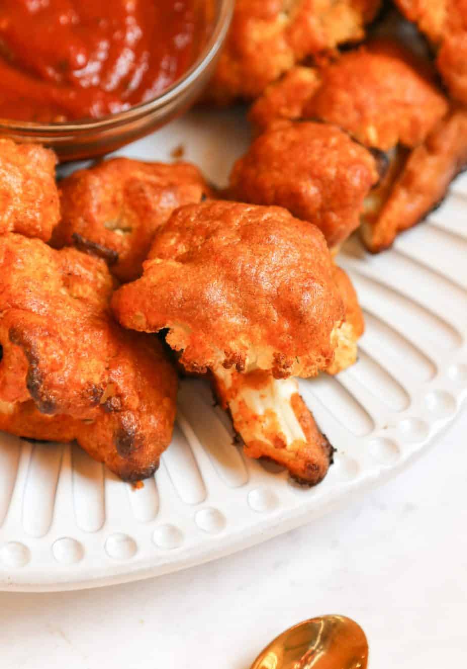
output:
[[[192,112],[127,147],[170,159],[182,145],[214,183],[247,147],[241,112]],[[232,446],[200,381],[182,383],[174,441],[135,491],[77,448],[0,436],[0,587],[61,590],[166,573],[309,522],[420,452],[467,395],[467,177],[393,250],[351,240],[350,271],[367,330],[357,365],[301,391],[337,448],[316,488],[293,484]]]

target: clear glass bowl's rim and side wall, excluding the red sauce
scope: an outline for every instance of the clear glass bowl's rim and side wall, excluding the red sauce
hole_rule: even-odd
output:
[[[209,1],[209,0],[208,0]],[[204,0],[206,2],[206,0]],[[212,29],[191,68],[162,94],[118,114],[92,120],[37,123],[0,118],[0,137],[40,142],[61,162],[115,151],[180,116],[198,98],[214,72],[235,0],[212,0]]]

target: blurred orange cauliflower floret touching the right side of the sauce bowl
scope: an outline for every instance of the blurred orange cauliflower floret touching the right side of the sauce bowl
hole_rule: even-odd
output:
[[[359,41],[379,0],[237,0],[205,98],[251,100],[306,56]]]

